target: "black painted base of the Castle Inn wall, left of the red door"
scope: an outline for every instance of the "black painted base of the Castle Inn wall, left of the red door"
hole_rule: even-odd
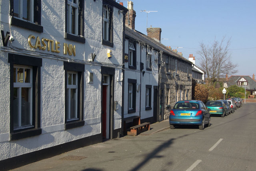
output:
[[[0,170],[2,171],[2,170],[14,169],[14,168],[21,167],[42,159],[53,157],[55,155],[60,155],[67,151],[71,151],[77,148],[85,147],[85,146],[100,143],[100,142],[102,142],[102,134],[97,134],[94,136],[82,138],[80,140],[75,140],[72,142],[56,145],[54,147],[49,147],[46,149],[41,149],[39,151],[34,151],[31,153],[1,160]]]

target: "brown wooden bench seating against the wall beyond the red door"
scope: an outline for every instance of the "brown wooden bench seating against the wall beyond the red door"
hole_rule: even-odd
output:
[[[128,126],[130,123],[130,126]],[[128,129],[126,128],[128,126]],[[129,128],[130,127],[130,128]],[[140,124],[140,116],[130,116],[124,118],[124,135],[137,136],[141,132],[150,130],[150,123]]]

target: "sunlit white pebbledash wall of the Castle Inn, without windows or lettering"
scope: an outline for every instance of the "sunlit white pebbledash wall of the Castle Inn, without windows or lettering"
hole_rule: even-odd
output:
[[[86,43],[64,39],[65,4],[64,1],[42,0],[41,25],[43,33],[10,26],[10,2],[0,0],[1,30],[10,31],[15,41],[12,47],[19,51],[3,47],[0,42],[0,160],[37,151],[54,145],[78,140],[101,132],[101,66],[115,68],[114,100],[119,108],[114,111],[114,129],[121,128],[122,104],[122,33],[123,16],[113,9],[114,47],[102,45],[102,1],[86,0],[84,3]],[[8,7],[8,8],[6,8]],[[11,29],[11,30],[10,30]],[[28,45],[28,36],[34,35],[60,42],[60,53],[32,49]],[[63,54],[63,43],[76,45],[76,56]],[[8,43],[10,47],[10,44]],[[108,59],[107,49],[112,49],[112,58]],[[22,53],[23,52],[23,53]],[[10,71],[8,53],[17,53],[42,58],[41,67],[41,128],[42,134],[35,137],[9,141],[10,133]],[[94,63],[91,53],[96,54]],[[84,120],[85,125],[64,130],[65,79],[63,60],[85,64],[84,72]],[[94,73],[94,82],[88,83],[88,71]],[[119,81],[118,81],[119,76]]]

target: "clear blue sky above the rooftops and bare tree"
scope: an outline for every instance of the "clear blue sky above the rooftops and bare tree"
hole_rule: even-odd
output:
[[[117,1],[117,0],[116,0]],[[117,1],[118,2],[118,1]],[[127,1],[121,1],[127,8]],[[231,37],[235,75],[256,75],[256,0],[132,0],[136,11],[135,29],[161,28],[161,43],[183,53],[193,54],[199,65],[199,43],[211,44]],[[229,75],[230,76],[230,75]]]

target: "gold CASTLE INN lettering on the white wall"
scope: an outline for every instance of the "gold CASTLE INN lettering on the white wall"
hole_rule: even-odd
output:
[[[34,42],[34,43],[32,43]],[[46,50],[51,52],[60,53],[60,42],[57,40],[50,40],[46,38],[40,39],[40,37],[35,37],[34,35],[30,35],[28,37],[28,45],[34,49]],[[71,45],[64,43],[63,44],[63,53],[68,55],[76,56],[76,45]]]

